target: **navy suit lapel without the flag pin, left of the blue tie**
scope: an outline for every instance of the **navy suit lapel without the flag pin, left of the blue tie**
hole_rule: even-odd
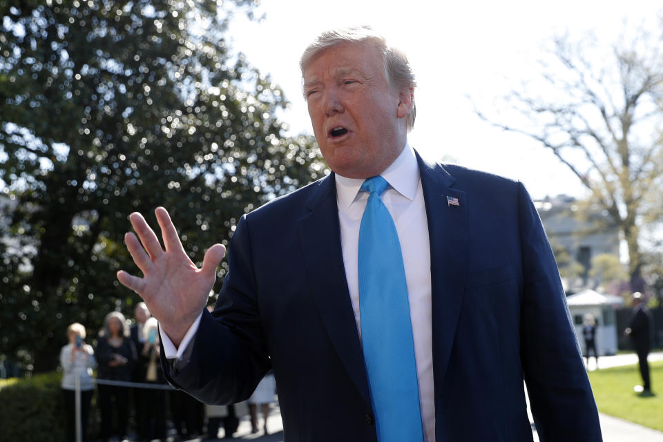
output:
[[[359,334],[345,278],[334,174],[322,180],[300,219],[306,278],[329,339],[352,381],[371,403]]]

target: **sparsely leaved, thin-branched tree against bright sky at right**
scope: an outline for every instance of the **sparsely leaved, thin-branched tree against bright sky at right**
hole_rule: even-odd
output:
[[[606,50],[588,36],[556,37],[541,75],[505,98],[503,117],[477,111],[536,140],[590,191],[628,244],[629,278],[642,290],[642,226],[662,217],[663,32],[643,28]]]

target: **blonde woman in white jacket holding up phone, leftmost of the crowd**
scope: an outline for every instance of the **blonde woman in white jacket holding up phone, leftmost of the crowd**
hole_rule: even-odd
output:
[[[87,440],[88,414],[90,401],[95,383],[92,378],[92,369],[95,367],[95,352],[85,343],[85,327],[73,323],[67,327],[69,343],[60,351],[60,365],[62,367],[62,392],[67,412],[67,440],[75,441],[76,437],[76,377],[81,385],[81,440]]]

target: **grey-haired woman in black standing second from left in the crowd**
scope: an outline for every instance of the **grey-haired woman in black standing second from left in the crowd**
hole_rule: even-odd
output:
[[[119,311],[112,311],[104,318],[104,328],[97,340],[97,359],[99,380],[131,381],[137,360],[136,347],[129,338],[129,327],[124,315]],[[113,435],[113,415],[117,417],[115,434],[120,440],[124,439],[128,421],[128,389],[101,383],[97,388],[102,412],[102,441],[108,441]]]

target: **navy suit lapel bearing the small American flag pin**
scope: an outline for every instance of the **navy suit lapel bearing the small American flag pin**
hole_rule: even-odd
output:
[[[419,161],[428,219],[432,289],[432,347],[435,390],[449,363],[467,278],[468,195],[452,189],[454,178],[440,164]],[[458,205],[452,204],[457,198]]]

